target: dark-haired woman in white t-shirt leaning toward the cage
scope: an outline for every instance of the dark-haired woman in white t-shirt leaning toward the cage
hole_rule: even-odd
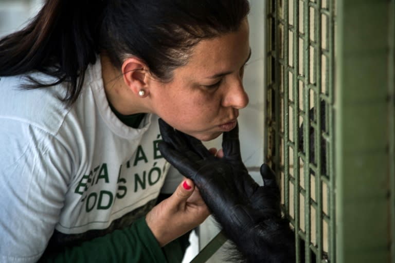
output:
[[[248,11],[48,0],[0,41],[0,261],[182,259],[177,238],[209,211],[167,175],[157,119],[204,141],[236,126]]]

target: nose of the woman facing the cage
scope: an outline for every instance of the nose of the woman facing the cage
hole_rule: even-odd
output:
[[[242,109],[247,106],[248,101],[248,95],[244,90],[242,80],[238,79],[228,86],[222,105]]]

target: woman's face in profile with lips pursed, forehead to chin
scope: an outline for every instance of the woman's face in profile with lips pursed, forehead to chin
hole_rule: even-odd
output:
[[[174,70],[171,82],[151,85],[153,112],[202,141],[234,128],[239,109],[248,104],[242,83],[250,56],[248,35],[245,20],[237,32],[197,44],[187,65]]]

